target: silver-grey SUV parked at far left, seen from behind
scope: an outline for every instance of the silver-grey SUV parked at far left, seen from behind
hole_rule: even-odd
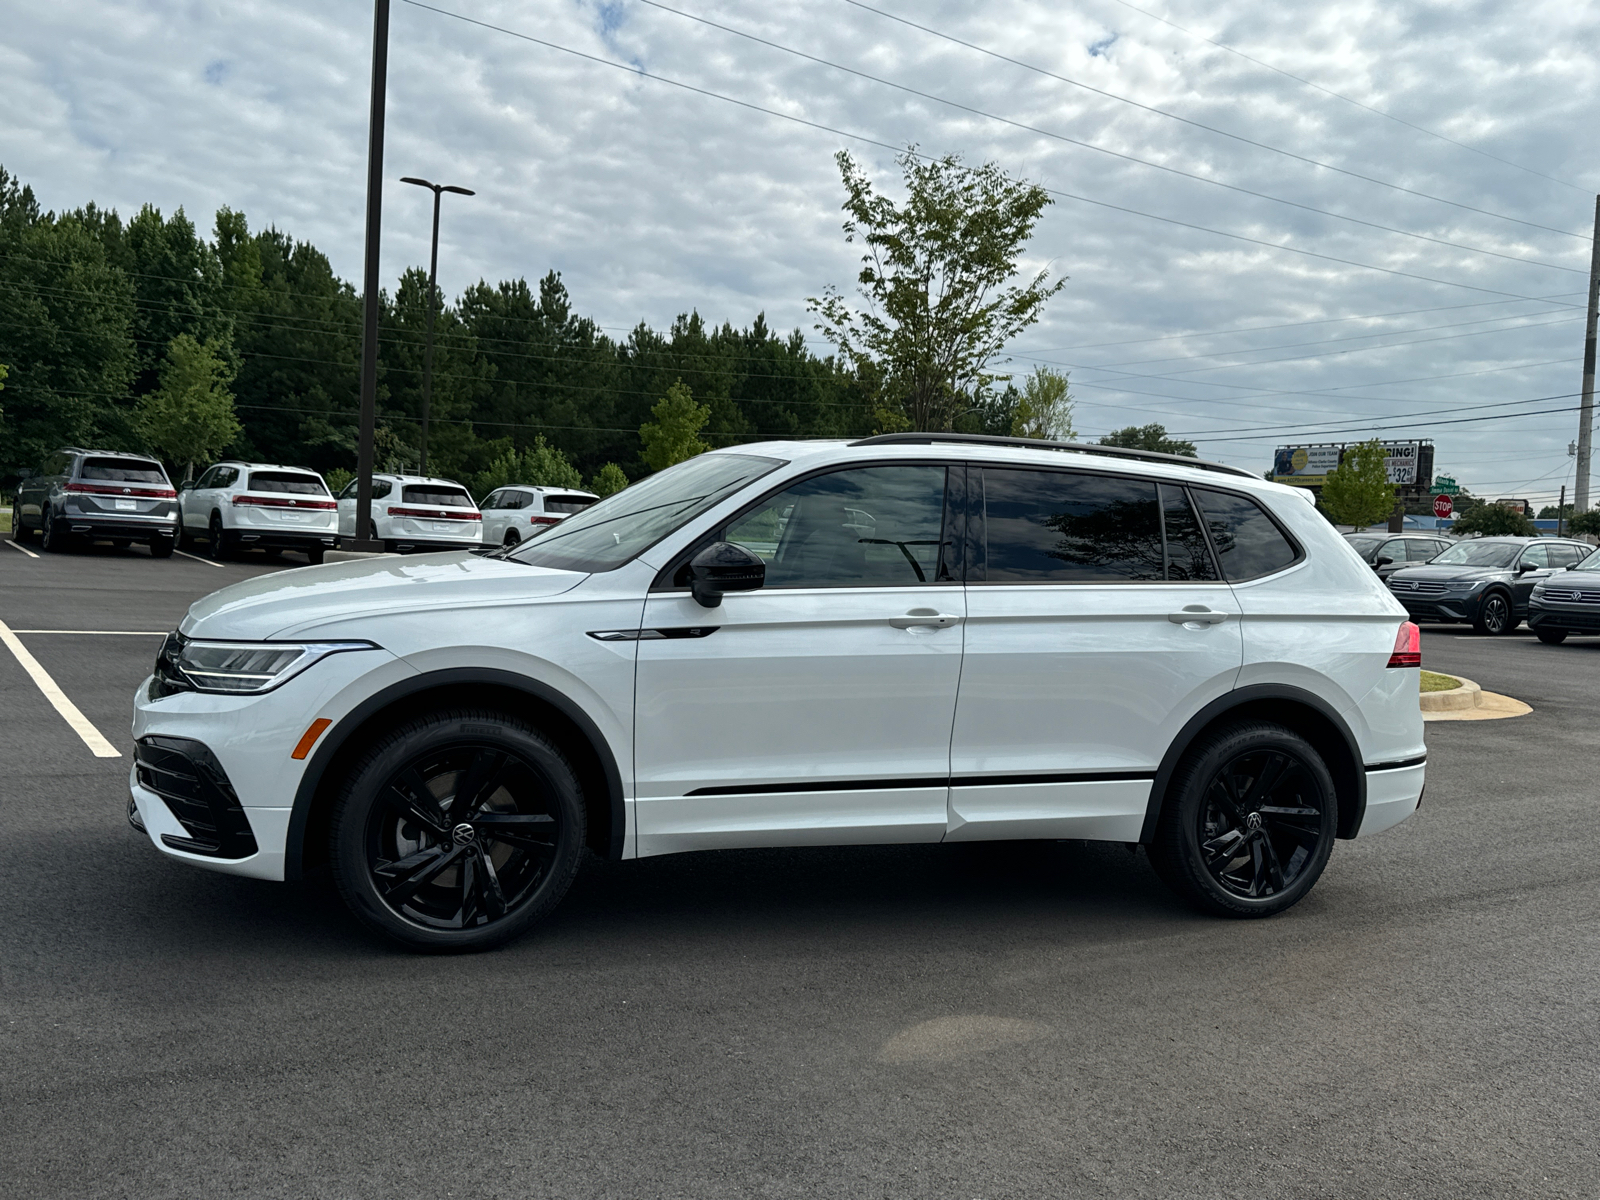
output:
[[[170,558],[176,499],[166,469],[152,458],[67,446],[18,485],[11,536],[24,542],[38,530],[46,550],[96,539],[144,542],[155,558]]]

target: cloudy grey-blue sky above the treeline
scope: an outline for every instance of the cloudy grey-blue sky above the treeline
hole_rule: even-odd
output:
[[[358,278],[371,5],[5,8],[0,165],[46,206],[230,205]],[[1054,194],[1027,266],[1070,282],[1011,352],[1072,371],[1080,434],[1160,421],[1256,470],[1432,437],[1442,474],[1554,502],[1595,46],[1600,6],[1554,0],[394,0],[386,171],[478,192],[450,293],[554,267],[619,334],[814,336],[805,298],[856,262],[835,150],[885,182],[886,147],[992,160]],[[427,205],[390,182],[386,282]]]

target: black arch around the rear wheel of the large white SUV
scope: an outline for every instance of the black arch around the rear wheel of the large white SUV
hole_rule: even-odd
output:
[[[1258,683],[1237,688],[1206,704],[1189,718],[1171,746],[1166,747],[1162,765],[1155,771],[1155,781],[1150,784],[1150,800],[1144,811],[1144,826],[1139,829],[1139,842],[1149,845],[1155,838],[1155,827],[1166,805],[1166,789],[1171,786],[1173,773],[1195,739],[1238,720],[1283,725],[1309,741],[1333,776],[1339,800],[1338,837],[1355,837],[1355,830],[1362,827],[1362,818],[1366,814],[1366,765],[1350,726],[1328,701],[1312,691],[1283,683]]]

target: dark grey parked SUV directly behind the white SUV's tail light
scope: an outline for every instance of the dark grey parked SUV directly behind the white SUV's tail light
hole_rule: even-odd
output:
[[[1558,538],[1474,538],[1432,562],[1389,576],[1389,590],[1413,621],[1469,622],[1509,634],[1528,613],[1534,584],[1582,562],[1589,547]]]

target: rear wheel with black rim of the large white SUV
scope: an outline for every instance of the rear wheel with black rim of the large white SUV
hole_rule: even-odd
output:
[[[1310,742],[1282,725],[1234,725],[1179,762],[1150,864],[1202,912],[1270,917],[1317,883],[1338,824],[1333,776]]]

